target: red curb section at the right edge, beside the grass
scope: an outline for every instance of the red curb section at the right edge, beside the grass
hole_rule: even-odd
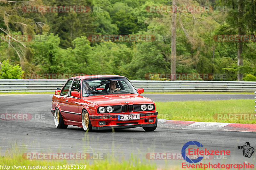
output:
[[[256,132],[256,124],[231,123],[231,124],[224,126],[218,130]]]

